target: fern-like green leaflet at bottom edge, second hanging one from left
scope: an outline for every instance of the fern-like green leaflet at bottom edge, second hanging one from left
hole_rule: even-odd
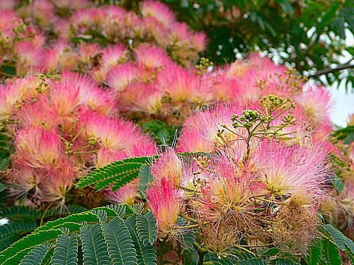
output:
[[[54,254],[50,264],[52,265],[76,265],[77,264],[77,235],[59,235],[55,244]]]

